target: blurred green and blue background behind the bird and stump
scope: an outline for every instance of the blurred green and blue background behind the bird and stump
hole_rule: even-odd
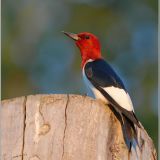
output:
[[[2,0],[2,99],[86,93],[79,50],[61,31],[91,32],[157,147],[157,17],[157,0]]]

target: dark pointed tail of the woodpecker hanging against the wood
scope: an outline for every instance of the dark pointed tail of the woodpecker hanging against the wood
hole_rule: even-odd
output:
[[[125,115],[121,115],[121,117],[124,138],[126,140],[126,144],[130,152],[134,142],[136,142],[136,144],[138,145],[137,130],[135,128],[134,123],[129,118],[127,118]]]

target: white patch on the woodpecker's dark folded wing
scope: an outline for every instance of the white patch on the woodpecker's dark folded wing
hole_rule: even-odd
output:
[[[128,111],[134,111],[131,98],[124,89],[117,87],[105,87],[103,88],[121,107]]]

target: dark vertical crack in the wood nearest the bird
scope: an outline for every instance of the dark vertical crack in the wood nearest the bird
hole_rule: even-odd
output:
[[[62,151],[62,158],[64,157],[64,141],[65,141],[65,136],[66,136],[66,129],[67,129],[67,107],[68,107],[68,103],[69,103],[69,95],[67,94],[67,102],[66,102],[66,106],[65,106],[65,127],[64,127],[64,134],[63,134],[63,151]]]

